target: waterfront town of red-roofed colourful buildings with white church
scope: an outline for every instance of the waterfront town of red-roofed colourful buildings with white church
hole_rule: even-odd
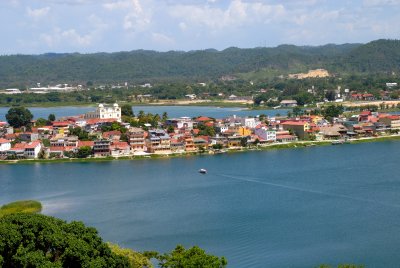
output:
[[[84,115],[56,119],[50,114],[48,119],[36,120],[26,108],[10,108],[7,122],[0,122],[0,159],[101,160],[220,154],[396,138],[400,130],[400,115],[371,109],[344,114],[343,106],[336,104],[319,110],[296,105],[292,108],[287,116],[169,118],[167,113],[140,111],[134,115],[132,106],[115,103],[99,104]]]

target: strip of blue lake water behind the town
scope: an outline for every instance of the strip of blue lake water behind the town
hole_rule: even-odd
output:
[[[0,107],[0,120],[5,120],[5,114],[9,108]],[[93,111],[95,107],[31,107],[28,109],[34,115],[34,119],[39,117],[47,118],[49,114],[53,113],[57,118],[63,116],[80,115],[88,111]],[[269,116],[275,116],[276,114],[286,115],[286,109],[280,110],[246,110],[243,108],[218,108],[218,107],[202,107],[202,106],[134,106],[133,111],[137,114],[140,110],[146,113],[163,114],[168,113],[169,117],[181,117],[181,116],[209,116],[214,118],[223,118],[231,115],[238,116],[256,116],[265,114]]]

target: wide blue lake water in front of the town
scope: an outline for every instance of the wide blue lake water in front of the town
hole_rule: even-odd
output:
[[[199,245],[229,267],[400,263],[400,142],[217,156],[0,165],[0,203],[166,252]],[[197,172],[206,168],[208,174]]]

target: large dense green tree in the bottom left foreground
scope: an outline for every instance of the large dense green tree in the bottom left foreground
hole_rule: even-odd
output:
[[[0,219],[2,267],[129,267],[95,228],[40,214]]]

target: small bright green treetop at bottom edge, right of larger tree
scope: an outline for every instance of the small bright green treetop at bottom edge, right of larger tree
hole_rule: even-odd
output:
[[[206,254],[197,246],[185,249],[182,245],[170,252],[157,257],[162,268],[185,268],[185,267],[207,267],[223,268],[228,262],[224,257],[217,257]]]

